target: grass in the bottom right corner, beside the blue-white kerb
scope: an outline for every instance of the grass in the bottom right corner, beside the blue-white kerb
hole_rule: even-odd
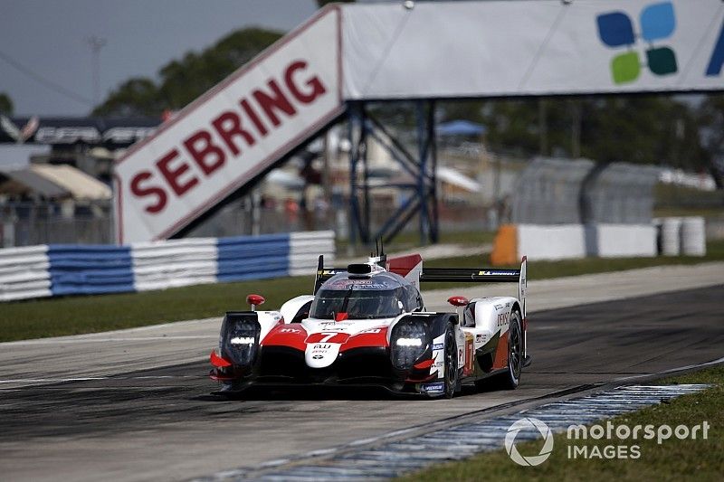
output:
[[[436,480],[563,480],[590,482],[592,480],[722,480],[724,474],[724,367],[721,365],[696,373],[681,375],[661,383],[712,383],[712,388],[682,395],[671,402],[653,405],[611,419],[614,426],[663,424],[675,429],[679,425],[692,428],[708,421],[708,438],[662,440],[656,439],[586,439],[568,440],[566,433],[554,439],[551,457],[536,467],[521,467],[514,463],[504,449],[483,453],[459,462],[451,462],[414,472],[398,481]],[[574,421],[571,421],[573,423]],[[701,431],[699,432],[701,435]],[[538,455],[541,441],[516,444],[523,456]],[[568,446],[586,445],[591,453],[606,446],[639,447],[639,458],[568,458]],[[572,450],[572,449],[571,449]],[[629,450],[627,450],[629,451]]]

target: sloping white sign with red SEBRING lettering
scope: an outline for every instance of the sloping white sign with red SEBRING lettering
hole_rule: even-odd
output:
[[[338,116],[337,33],[326,10],[121,158],[118,241],[174,234]]]

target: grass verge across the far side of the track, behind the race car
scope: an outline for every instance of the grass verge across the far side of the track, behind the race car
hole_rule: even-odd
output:
[[[529,279],[550,279],[584,273],[646,268],[670,264],[696,264],[724,260],[724,241],[710,242],[703,258],[628,258],[530,261]],[[426,261],[431,267],[481,267],[489,260],[462,256]],[[309,294],[313,273],[306,277],[258,279],[236,283],[196,285],[185,288],[99,296],[77,296],[15,301],[0,304],[0,342],[77,335],[121,328],[147,326],[169,321],[217,317],[224,311],[246,309],[246,295],[266,298],[264,308],[277,308],[289,298]],[[450,288],[450,283],[433,283],[425,289]]]

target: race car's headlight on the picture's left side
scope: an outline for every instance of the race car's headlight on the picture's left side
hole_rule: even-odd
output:
[[[221,329],[220,348],[234,365],[253,364],[259,350],[262,326],[255,313],[227,313]]]

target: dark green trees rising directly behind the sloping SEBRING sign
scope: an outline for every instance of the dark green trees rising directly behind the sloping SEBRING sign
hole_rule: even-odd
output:
[[[127,80],[93,114],[157,117],[167,109],[182,109],[280,37],[279,32],[257,27],[237,30],[203,52],[186,52],[180,60],[168,62],[157,83],[148,78]]]

